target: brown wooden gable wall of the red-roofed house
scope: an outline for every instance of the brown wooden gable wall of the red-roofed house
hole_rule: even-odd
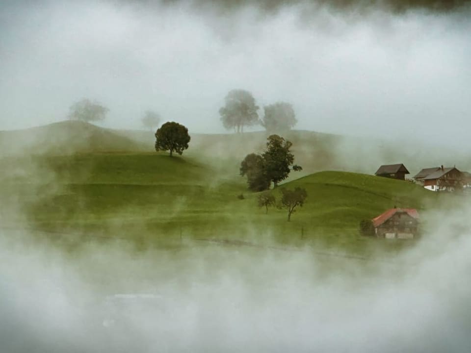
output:
[[[411,239],[417,235],[418,221],[407,212],[397,212],[389,220],[375,228],[376,236],[383,238]]]

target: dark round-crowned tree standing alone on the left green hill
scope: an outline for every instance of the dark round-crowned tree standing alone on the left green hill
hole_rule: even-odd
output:
[[[190,135],[188,129],[175,122],[168,122],[160,126],[156,132],[156,151],[170,151],[182,154],[188,148]]]

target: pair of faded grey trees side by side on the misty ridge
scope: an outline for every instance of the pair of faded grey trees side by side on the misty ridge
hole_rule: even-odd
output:
[[[234,89],[225,98],[225,105],[219,109],[223,126],[236,132],[243,132],[244,126],[262,125],[268,132],[281,132],[296,125],[293,106],[287,102],[276,102],[263,107],[263,118],[259,118],[259,106],[248,91]]]

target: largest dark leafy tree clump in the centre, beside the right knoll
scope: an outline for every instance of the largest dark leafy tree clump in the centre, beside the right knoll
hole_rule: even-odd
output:
[[[247,176],[249,190],[267,190],[271,183],[276,188],[291,170],[302,170],[301,166],[293,165],[294,155],[289,151],[291,146],[292,143],[283,137],[270,135],[262,154],[250,153],[245,156],[240,163],[240,175]]]

